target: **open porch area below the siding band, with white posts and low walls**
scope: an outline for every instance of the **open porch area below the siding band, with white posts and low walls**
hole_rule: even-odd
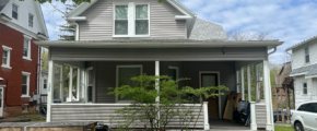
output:
[[[196,128],[206,129],[206,124],[210,124],[211,129],[220,128],[219,126],[226,126],[226,128],[221,129],[257,129],[267,128],[267,114],[266,112],[266,102],[265,102],[265,91],[263,80],[263,63],[267,61],[58,61],[52,60],[55,63],[55,71],[59,70],[61,73],[58,79],[63,80],[62,73],[64,73],[64,67],[70,67],[69,72],[73,72],[77,68],[77,81],[80,86],[77,86],[77,94],[68,93],[64,96],[62,93],[63,81],[60,81],[60,85],[55,86],[52,93],[54,102],[61,100],[61,104],[50,104],[48,107],[48,116],[50,116],[50,121],[102,121],[105,124],[110,124],[113,127],[115,123],[114,111],[121,109],[129,105],[126,99],[120,99],[115,95],[109,95],[107,93],[111,92],[108,87],[117,87],[120,85],[120,79],[130,79],[130,76],[136,76],[140,74],[148,75],[168,75],[169,78],[189,78],[190,80],[179,82],[178,85],[191,86],[199,88],[203,85],[203,78],[211,76],[214,78],[210,80],[214,82],[214,85],[225,85],[230,91],[224,92],[225,95],[210,99],[209,104],[204,104],[207,109],[199,111],[198,98],[192,103],[193,108],[199,117]],[[136,74],[137,70],[137,74]],[[245,76],[245,70],[247,76]],[[134,75],[129,73],[120,72],[127,71],[132,72]],[[251,75],[251,73],[257,72],[258,75]],[[70,78],[73,73],[70,73]],[[215,75],[214,75],[215,74]],[[127,75],[128,78],[120,76]],[[55,76],[57,76],[55,74]],[[258,76],[258,78],[251,78]],[[245,82],[247,80],[247,83]],[[255,81],[258,80],[258,81]],[[215,82],[216,81],[216,82]],[[255,82],[255,84],[251,84]],[[73,82],[69,82],[72,84]],[[244,88],[245,84],[250,85]],[[257,86],[251,86],[257,85]],[[74,85],[69,85],[69,91],[73,91]],[[258,90],[257,90],[258,88]],[[59,91],[59,92],[56,92]],[[232,92],[242,93],[242,100],[248,100],[251,104],[251,127],[244,127],[239,124],[228,124],[227,120],[223,120],[223,115],[226,108],[228,94]],[[269,92],[269,91],[268,91]],[[64,97],[73,97],[75,99],[67,99]],[[256,99],[251,99],[248,96],[256,96]],[[192,105],[188,105],[192,106]],[[50,109],[50,110],[49,110]],[[50,114],[49,114],[50,112]],[[270,114],[270,112],[269,112]],[[120,116],[116,116],[120,118]],[[207,119],[207,120],[204,120]],[[173,123],[173,127],[179,127],[177,123]],[[142,127],[142,126],[140,126]],[[209,129],[209,128],[208,128]]]

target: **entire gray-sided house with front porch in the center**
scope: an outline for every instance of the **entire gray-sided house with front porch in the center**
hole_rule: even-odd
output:
[[[35,43],[50,51],[48,122],[91,120],[110,124],[115,109],[128,106],[131,100],[108,95],[108,87],[120,86],[129,82],[130,76],[146,73],[190,78],[179,85],[196,88],[210,85],[230,88],[224,96],[204,103],[203,114],[197,115],[197,128],[209,129],[213,124],[209,119],[221,122],[219,119],[224,114],[228,94],[237,91],[243,100],[251,105],[251,128],[248,129],[273,130],[268,56],[274,51],[268,53],[268,50],[277,50],[283,41],[228,41],[221,25],[197,19],[177,0],[163,3],[157,0],[92,0],[80,4],[64,19],[77,26],[75,40]],[[60,67],[55,67],[56,63]],[[57,78],[52,72],[60,70],[62,74],[66,64],[71,66],[70,72],[72,67],[79,69],[79,100],[63,102],[63,95],[58,95],[63,94],[63,75]],[[251,64],[257,68],[250,68]],[[245,68],[247,78],[243,74]],[[257,96],[254,102],[245,99],[245,92],[242,92],[247,84],[244,79],[250,80],[250,70],[258,73],[255,85],[261,83],[265,87],[262,98],[257,95],[259,90],[251,93],[250,86],[246,88],[248,96]],[[58,92],[55,78],[62,80]],[[72,91],[72,82],[69,83],[69,91]],[[55,99],[61,103],[52,103]]]

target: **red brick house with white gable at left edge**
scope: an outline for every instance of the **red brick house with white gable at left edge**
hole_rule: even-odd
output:
[[[0,117],[35,111],[40,47],[34,41],[47,36],[38,2],[0,0]]]

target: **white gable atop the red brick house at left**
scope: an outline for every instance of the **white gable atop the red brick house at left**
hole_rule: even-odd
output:
[[[12,17],[12,4],[16,4],[19,7],[17,20]],[[38,39],[38,33],[48,37],[40,4],[38,2],[33,0],[10,0],[0,13],[11,19],[8,22],[2,22],[5,25],[36,39]],[[28,26],[28,14],[33,15],[33,26]]]

